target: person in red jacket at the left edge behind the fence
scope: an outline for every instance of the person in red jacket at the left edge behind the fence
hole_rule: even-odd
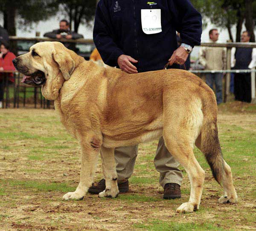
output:
[[[3,73],[3,71],[15,71],[12,60],[16,58],[15,54],[9,51],[9,45],[2,41],[0,46],[0,108],[3,107],[3,92],[4,92],[4,76],[7,75],[9,83],[14,82],[13,73]],[[7,80],[6,80],[7,81]]]

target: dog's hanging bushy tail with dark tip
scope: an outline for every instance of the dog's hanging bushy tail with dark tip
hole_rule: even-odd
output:
[[[221,152],[220,141],[218,139],[217,113],[215,95],[207,94],[203,100],[203,126],[201,129],[201,151],[204,153],[208,164],[211,167],[212,175],[215,180],[221,184],[224,161]]]

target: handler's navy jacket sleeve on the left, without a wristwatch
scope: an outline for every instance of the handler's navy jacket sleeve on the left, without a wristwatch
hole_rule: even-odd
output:
[[[116,45],[106,0],[100,0],[96,8],[93,40],[104,63],[118,66],[117,58],[124,52]]]

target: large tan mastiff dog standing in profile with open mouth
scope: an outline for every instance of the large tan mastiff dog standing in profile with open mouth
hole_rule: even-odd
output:
[[[24,83],[42,85],[42,94],[54,100],[61,122],[81,144],[80,182],[64,200],[82,199],[87,193],[100,150],[106,189],[99,196],[116,197],[114,148],[163,136],[191,184],[189,202],[177,212],[192,212],[200,205],[204,170],[195,159],[195,145],[224,186],[218,201],[236,202],[231,169],[218,139],[215,95],[196,75],[178,69],[131,75],[85,61],[59,42],[37,43],[13,62],[25,75]]]

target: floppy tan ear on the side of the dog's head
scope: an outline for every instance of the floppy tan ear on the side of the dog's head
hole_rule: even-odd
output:
[[[52,53],[52,58],[58,64],[64,79],[69,80],[76,65],[70,54],[68,52],[54,51]]]

